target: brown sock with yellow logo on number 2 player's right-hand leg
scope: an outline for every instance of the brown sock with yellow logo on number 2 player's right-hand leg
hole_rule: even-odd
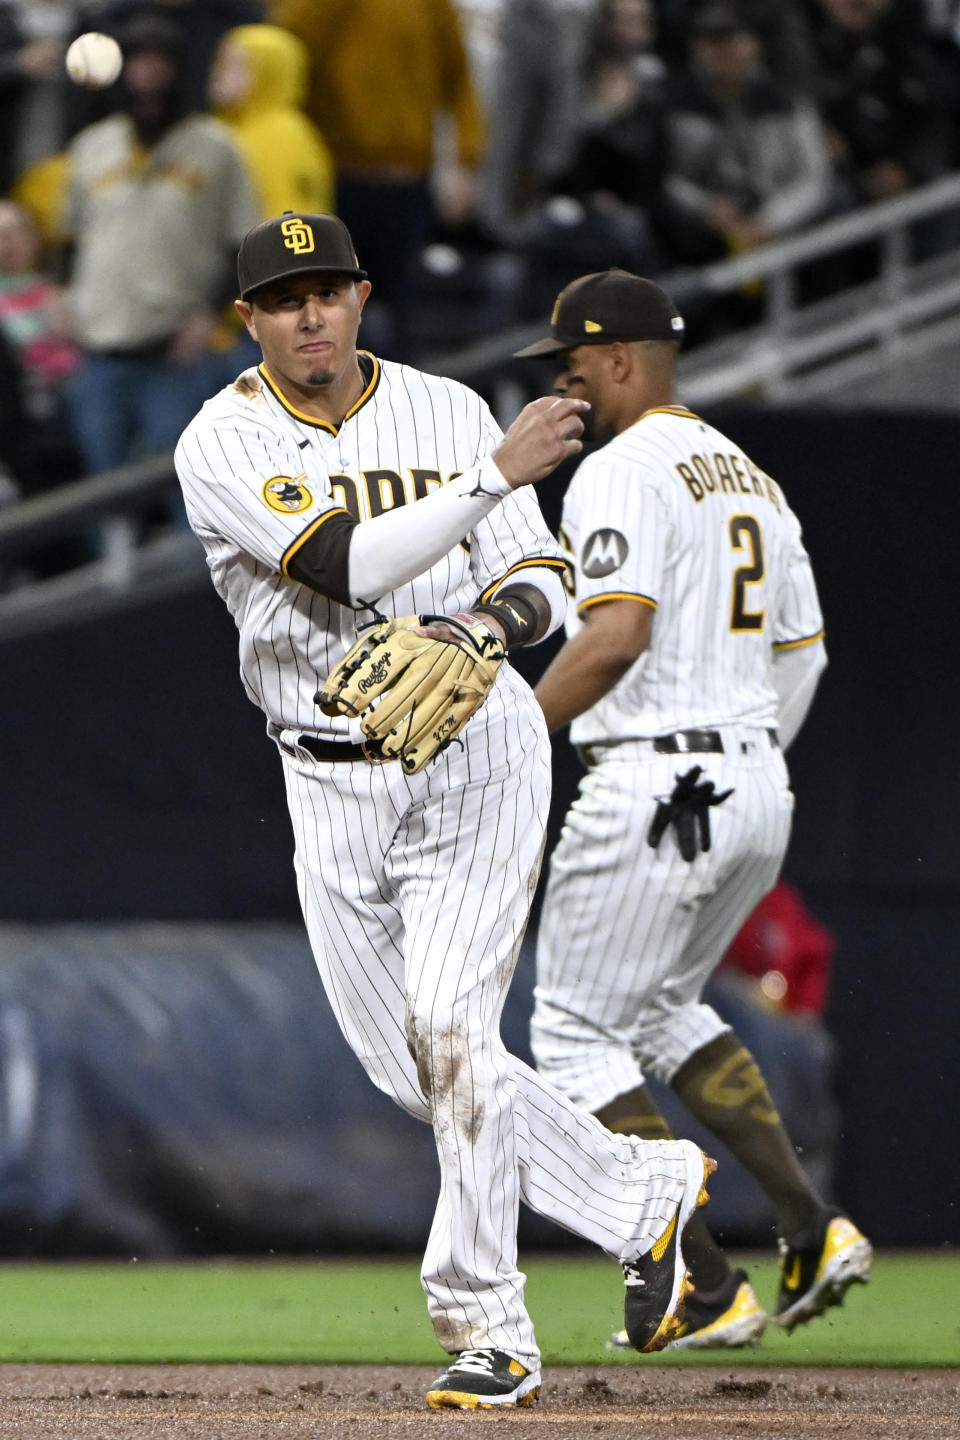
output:
[[[800,1168],[760,1066],[733,1031],[691,1056],[671,1089],[750,1171],[770,1200],[786,1240],[816,1233],[826,1208],[823,1200]]]

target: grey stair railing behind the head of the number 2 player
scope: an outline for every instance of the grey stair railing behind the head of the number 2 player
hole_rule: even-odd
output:
[[[874,245],[871,276],[805,301],[803,275],[818,262]],[[813,226],[699,269],[658,276],[681,310],[750,291],[756,323],[681,357],[687,403],[809,400],[885,370],[911,353],[960,338],[960,174]],[[499,386],[498,418],[511,418],[522,387],[514,350],[544,323],[491,336],[425,366],[475,384]],[[521,402],[522,403],[522,402]]]

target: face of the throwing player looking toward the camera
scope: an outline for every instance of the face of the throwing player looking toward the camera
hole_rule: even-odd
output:
[[[273,379],[309,393],[330,390],[357,363],[357,328],[370,281],[322,272],[292,275],[237,301]]]

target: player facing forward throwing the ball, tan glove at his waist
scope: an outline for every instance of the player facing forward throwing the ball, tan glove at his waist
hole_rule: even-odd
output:
[[[524,487],[579,452],[586,405],[534,402],[502,436],[465,386],[358,351],[370,282],[334,216],[266,220],[237,272],[263,361],[181,436],[187,513],[282,762],[327,996],[373,1083],[433,1126],[422,1280],[455,1359],[427,1401],[530,1404],[518,1201],[622,1263],[630,1342],[659,1349],[714,1168],[689,1140],[610,1133],[499,1040],[550,789],[504,651],[566,608]]]

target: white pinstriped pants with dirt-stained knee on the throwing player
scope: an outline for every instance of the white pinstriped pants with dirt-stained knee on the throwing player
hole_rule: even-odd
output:
[[[510,667],[462,740],[413,776],[282,760],[330,1004],[374,1084],[433,1125],[440,1194],[422,1280],[436,1336],[533,1367],[518,1201],[633,1259],[674,1215],[685,1161],[674,1142],[610,1135],[504,1048],[550,798],[543,716]]]

